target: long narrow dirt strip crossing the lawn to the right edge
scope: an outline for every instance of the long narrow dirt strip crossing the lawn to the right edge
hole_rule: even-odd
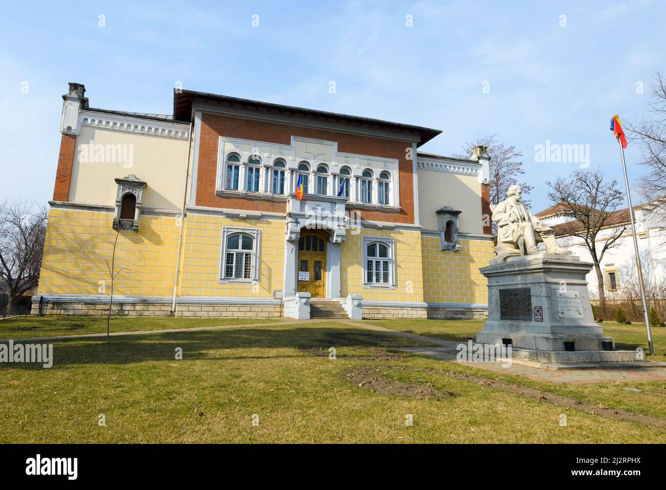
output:
[[[424,371],[423,369],[410,369],[408,367],[398,367],[398,366],[390,366],[388,367],[388,369]],[[474,376],[465,373],[456,373],[454,371],[427,369],[425,370],[425,372],[443,374],[446,376],[455,377],[456,379],[464,379],[465,381],[470,381],[470,383],[476,383],[494,389],[500,389],[501,391],[508,391],[509,393],[516,393],[518,395],[535,398],[539,401],[554,403],[555,405],[559,405],[561,407],[568,407],[579,411],[585,411],[587,413],[591,413],[591,415],[599,415],[600,417],[606,417],[609,419],[622,420],[627,422],[638,422],[644,425],[656,425],[657,427],[666,428],[666,420],[661,419],[659,417],[641,415],[640,413],[633,413],[631,411],[625,411],[621,409],[611,409],[606,405],[601,405],[601,404],[591,405],[589,403],[583,403],[582,401],[577,400],[575,398],[556,395],[555,393],[547,393],[546,391],[541,391],[540,389],[536,388],[514,385],[511,383],[507,383],[505,381],[498,381],[496,379],[488,379],[485,377]]]

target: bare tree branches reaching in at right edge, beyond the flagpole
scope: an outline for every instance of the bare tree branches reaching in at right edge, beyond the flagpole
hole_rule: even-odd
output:
[[[639,179],[639,191],[647,201],[666,210],[666,78],[655,72],[647,103],[649,117],[627,122],[627,136],[641,149],[647,172]],[[655,199],[657,199],[655,201]]]

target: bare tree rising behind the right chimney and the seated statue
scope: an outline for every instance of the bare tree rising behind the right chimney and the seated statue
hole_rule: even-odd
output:
[[[497,206],[506,199],[506,190],[509,186],[519,185],[523,189],[523,196],[529,194],[533,186],[518,182],[523,170],[523,162],[519,160],[523,156],[522,152],[515,149],[515,146],[505,146],[503,142],[496,139],[497,134],[490,134],[477,138],[475,142],[467,142],[463,147],[463,154],[454,155],[457,158],[471,158],[472,148],[474,146],[488,146],[488,156],[490,156],[490,204]],[[522,201],[529,208],[529,200]]]

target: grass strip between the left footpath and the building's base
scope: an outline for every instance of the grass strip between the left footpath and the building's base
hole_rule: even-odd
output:
[[[170,328],[246,325],[272,322],[267,318],[111,318],[111,332],[165,330]],[[0,320],[0,338],[55,337],[107,333],[102,316],[19,316]]]

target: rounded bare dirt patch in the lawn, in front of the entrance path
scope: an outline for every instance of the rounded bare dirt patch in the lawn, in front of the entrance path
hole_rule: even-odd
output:
[[[373,393],[436,400],[454,395],[453,391],[442,392],[431,386],[404,383],[403,381],[384,377],[381,375],[380,370],[381,368],[379,367],[370,366],[352,367],[344,371],[344,375],[350,383],[370,389]]]

